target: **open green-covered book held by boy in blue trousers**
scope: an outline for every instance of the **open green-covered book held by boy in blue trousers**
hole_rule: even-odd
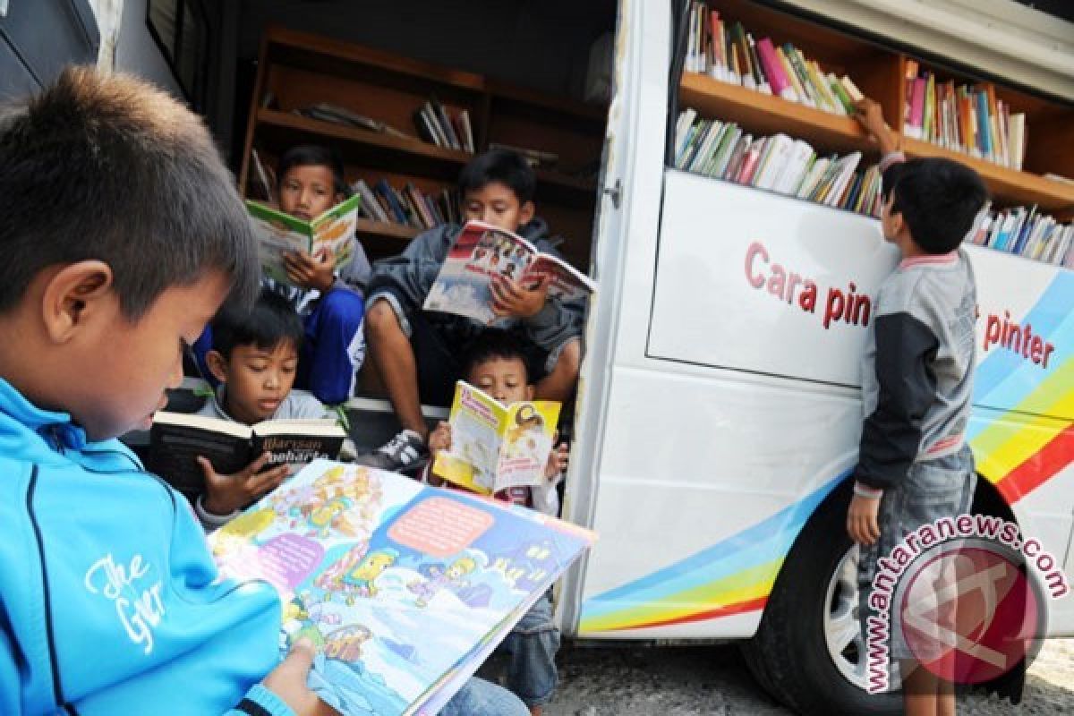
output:
[[[284,268],[282,254],[287,251],[314,254],[328,248],[335,255],[336,266],[346,263],[350,259],[361,203],[362,198],[354,194],[316,219],[303,221],[271,206],[247,201],[246,210],[258,229],[258,255],[265,276],[280,283],[291,282]]]

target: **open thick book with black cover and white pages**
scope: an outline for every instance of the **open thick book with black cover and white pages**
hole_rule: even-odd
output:
[[[268,420],[243,425],[230,420],[160,411],[149,429],[147,466],[185,494],[205,487],[199,455],[220,474],[234,474],[262,453],[264,469],[287,464],[297,469],[319,457],[339,456],[347,433],[334,420]]]

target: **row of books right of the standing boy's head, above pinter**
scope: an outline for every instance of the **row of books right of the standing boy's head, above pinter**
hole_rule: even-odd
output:
[[[999,211],[985,207],[966,240],[1074,268],[1074,224],[1062,224],[1050,216],[1037,214],[1035,206]]]

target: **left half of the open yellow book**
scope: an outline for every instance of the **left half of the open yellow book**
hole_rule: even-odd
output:
[[[506,411],[483,391],[460,380],[451,404],[451,450],[440,453],[433,473],[466,489],[491,495],[496,482],[499,436]]]

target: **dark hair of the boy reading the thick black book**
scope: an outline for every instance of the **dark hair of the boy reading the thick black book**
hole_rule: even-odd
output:
[[[272,350],[281,342],[302,346],[302,319],[284,296],[262,289],[252,308],[224,306],[213,319],[213,350],[226,360],[241,346]]]

